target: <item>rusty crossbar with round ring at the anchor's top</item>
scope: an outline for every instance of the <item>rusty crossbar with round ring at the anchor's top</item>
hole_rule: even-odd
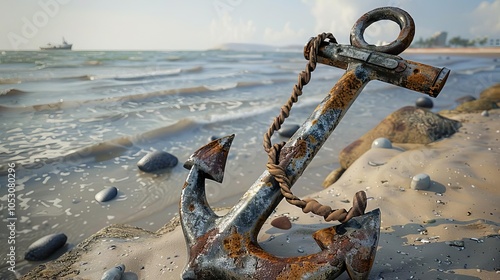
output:
[[[383,46],[368,44],[364,31],[380,20],[391,20],[400,27],[398,37]],[[404,60],[397,56],[408,48],[415,35],[415,22],[411,16],[396,7],[381,7],[361,16],[351,29],[351,46],[336,42],[324,42],[317,54],[317,61],[326,65],[346,69],[350,63],[364,63],[376,70],[375,79],[410,90],[437,97],[443,88],[450,70]],[[304,57],[311,55],[310,40],[304,47]]]

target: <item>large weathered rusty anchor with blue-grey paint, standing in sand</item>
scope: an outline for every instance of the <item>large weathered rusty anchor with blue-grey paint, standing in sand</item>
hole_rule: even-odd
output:
[[[363,32],[381,19],[395,21],[401,32],[389,45],[368,45]],[[306,59],[315,56],[318,62],[346,69],[346,72],[281,149],[279,165],[285,170],[290,186],[369,81],[377,79],[433,97],[439,94],[448,77],[448,69],[397,56],[410,45],[414,28],[412,18],[405,11],[384,7],[368,12],[356,22],[351,32],[351,45],[337,44],[334,39],[324,40],[325,36],[318,36],[320,40],[312,39],[306,45]],[[181,277],[334,279],[347,270],[351,279],[367,279],[380,235],[380,211],[364,213],[364,192],[355,196],[354,204],[360,208],[358,213],[340,225],[314,233],[321,251],[307,256],[277,257],[264,251],[257,242],[259,230],[284,197],[279,184],[267,170],[227,214],[214,213],[206,199],[205,180],[222,182],[233,138],[234,135],[230,135],[212,141],[185,163],[190,172],[179,207],[188,262]]]

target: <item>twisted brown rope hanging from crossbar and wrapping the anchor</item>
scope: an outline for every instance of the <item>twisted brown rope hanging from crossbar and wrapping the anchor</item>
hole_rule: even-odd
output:
[[[264,134],[263,145],[264,150],[268,154],[268,161],[266,164],[267,170],[278,182],[281,194],[285,197],[288,203],[300,207],[304,213],[311,212],[315,215],[323,216],[327,222],[339,221],[341,223],[345,223],[352,217],[364,214],[366,209],[366,193],[364,191],[359,191],[354,195],[353,207],[351,207],[349,211],[346,211],[345,209],[333,210],[330,206],[322,205],[314,199],[302,200],[298,198],[290,190],[291,182],[286,175],[285,164],[280,164],[279,161],[279,154],[281,148],[285,145],[285,142],[274,145],[271,143],[271,137],[274,132],[281,128],[285,119],[290,115],[290,110],[292,109],[293,104],[296,103],[299,100],[299,96],[302,95],[302,88],[311,80],[311,72],[316,69],[316,58],[319,48],[321,43],[326,39],[329,39],[330,42],[337,42],[331,33],[322,33],[313,39],[309,49],[309,62],[306,64],[305,70],[300,72],[297,83],[293,86],[292,94],[288,101],[281,107],[280,114],[274,118],[273,123]]]

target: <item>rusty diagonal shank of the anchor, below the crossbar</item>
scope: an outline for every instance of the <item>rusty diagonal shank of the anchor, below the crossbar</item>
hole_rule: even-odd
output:
[[[352,64],[325,99],[283,147],[280,158],[293,185],[347,112],[373,73],[363,64]],[[239,232],[257,237],[264,221],[283,199],[279,185],[266,170],[222,219],[221,228],[238,225]],[[260,217],[255,221],[255,217]]]

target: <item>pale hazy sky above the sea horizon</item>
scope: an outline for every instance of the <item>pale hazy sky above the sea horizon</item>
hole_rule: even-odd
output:
[[[500,38],[500,0],[0,0],[0,50],[60,43],[74,50],[205,50],[224,43],[304,45],[331,32],[349,32],[378,7],[406,10],[415,39],[447,31],[448,38]],[[399,27],[371,25],[369,43],[390,42]]]

